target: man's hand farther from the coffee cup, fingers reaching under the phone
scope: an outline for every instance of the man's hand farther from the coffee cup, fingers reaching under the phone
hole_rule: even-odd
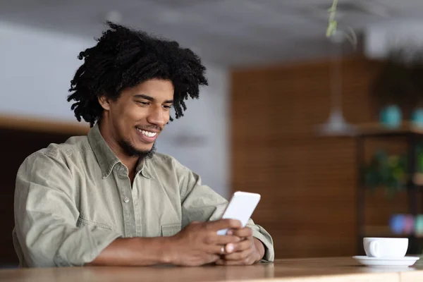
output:
[[[180,233],[172,236],[169,244],[168,262],[180,266],[200,266],[216,262],[222,248],[240,242],[238,235],[217,235],[220,229],[240,229],[240,221],[220,219],[218,221],[192,222]]]

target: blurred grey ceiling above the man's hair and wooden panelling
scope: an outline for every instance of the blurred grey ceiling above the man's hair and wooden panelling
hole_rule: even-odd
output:
[[[178,40],[205,61],[244,66],[327,54],[332,0],[0,0],[0,20],[93,38],[104,22]],[[423,0],[339,0],[338,21],[421,18]]]

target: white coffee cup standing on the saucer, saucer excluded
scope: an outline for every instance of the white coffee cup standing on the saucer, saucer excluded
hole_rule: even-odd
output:
[[[408,238],[363,238],[367,257],[400,258],[405,257]]]

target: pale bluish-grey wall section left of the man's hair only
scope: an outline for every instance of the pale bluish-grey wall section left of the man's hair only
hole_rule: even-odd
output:
[[[66,102],[80,51],[78,37],[0,24],[0,113],[75,121]]]

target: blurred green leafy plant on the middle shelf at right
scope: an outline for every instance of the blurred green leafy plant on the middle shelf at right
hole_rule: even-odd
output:
[[[403,190],[407,183],[407,157],[405,154],[388,155],[380,150],[369,164],[364,166],[364,184],[369,189],[384,187],[386,195],[392,197]]]

